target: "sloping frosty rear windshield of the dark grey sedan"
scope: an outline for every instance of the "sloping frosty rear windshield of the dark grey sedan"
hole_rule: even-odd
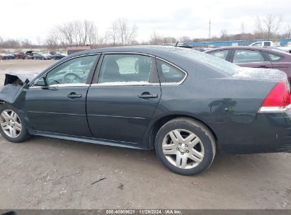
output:
[[[176,54],[188,57],[189,59],[201,62],[202,64],[207,64],[207,66],[211,66],[212,68],[221,71],[223,74],[230,76],[233,76],[241,71],[241,67],[236,64],[232,64],[224,59],[220,59],[219,57],[214,57],[210,54],[205,54],[195,50],[176,49]]]

